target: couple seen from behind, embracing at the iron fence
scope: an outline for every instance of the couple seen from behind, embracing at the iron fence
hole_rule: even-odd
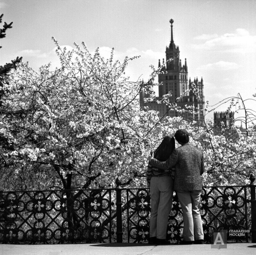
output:
[[[175,139],[181,145],[175,149]],[[148,157],[147,180],[150,183],[150,244],[168,244],[166,230],[172,210],[173,190],[178,195],[183,215],[183,244],[203,244],[204,232],[199,212],[204,172],[203,152],[189,143],[185,129],[174,137],[164,137]]]

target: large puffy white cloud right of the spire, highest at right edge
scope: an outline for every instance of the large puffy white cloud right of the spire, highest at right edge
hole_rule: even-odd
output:
[[[194,39],[205,41],[201,44],[193,44],[196,49],[238,53],[256,52],[256,36],[250,35],[244,28],[237,28],[236,33],[226,33],[221,36],[203,34]]]

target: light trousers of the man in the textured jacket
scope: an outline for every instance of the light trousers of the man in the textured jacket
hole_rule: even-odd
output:
[[[202,219],[199,211],[201,190],[177,190],[183,215],[183,240],[204,239]]]

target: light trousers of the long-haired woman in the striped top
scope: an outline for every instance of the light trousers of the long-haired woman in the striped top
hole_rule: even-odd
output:
[[[172,209],[172,177],[152,177],[150,181],[151,213],[149,236],[166,238],[169,214]]]

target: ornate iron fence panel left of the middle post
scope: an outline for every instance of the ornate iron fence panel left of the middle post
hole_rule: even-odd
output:
[[[111,193],[111,189],[2,192],[0,241],[111,242]]]

